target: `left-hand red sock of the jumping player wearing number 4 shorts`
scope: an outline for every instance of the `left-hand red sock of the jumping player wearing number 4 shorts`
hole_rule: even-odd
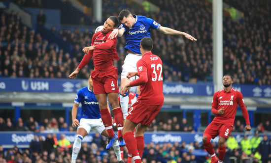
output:
[[[109,137],[114,137],[114,131],[112,128],[112,118],[111,115],[108,111],[108,109],[100,109],[101,112],[101,116],[102,116],[102,123],[104,125],[104,127],[106,128]]]

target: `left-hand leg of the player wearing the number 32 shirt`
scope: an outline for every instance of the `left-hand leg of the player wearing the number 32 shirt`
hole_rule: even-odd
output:
[[[129,119],[126,119],[122,129],[122,134],[126,142],[126,147],[129,153],[132,155],[133,160],[135,161],[135,163],[141,163],[141,158],[137,151],[136,140],[133,133],[133,130],[135,129],[136,125],[137,123],[132,122]]]

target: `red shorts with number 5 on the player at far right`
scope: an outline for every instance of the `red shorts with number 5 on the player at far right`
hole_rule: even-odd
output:
[[[211,122],[207,128],[205,129],[204,135],[209,135],[212,138],[215,138],[216,136],[225,137],[228,139],[233,129],[232,124],[227,123],[213,123]]]

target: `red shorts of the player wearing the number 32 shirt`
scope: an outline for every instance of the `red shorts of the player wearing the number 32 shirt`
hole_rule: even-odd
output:
[[[149,126],[161,108],[162,105],[143,105],[136,102],[130,108],[126,119]]]

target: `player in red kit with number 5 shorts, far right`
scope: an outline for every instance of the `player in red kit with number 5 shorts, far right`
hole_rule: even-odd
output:
[[[245,118],[245,131],[250,131],[250,123],[248,112],[246,110],[243,95],[232,87],[233,77],[231,75],[225,75],[223,77],[224,89],[215,92],[212,101],[212,113],[216,116],[213,121],[207,126],[203,134],[203,145],[206,151],[211,155],[211,163],[222,163],[225,155],[226,147],[225,141],[230,136],[237,105],[242,110],[243,117]],[[211,138],[218,138],[218,158],[215,156],[214,149],[210,142]]]

